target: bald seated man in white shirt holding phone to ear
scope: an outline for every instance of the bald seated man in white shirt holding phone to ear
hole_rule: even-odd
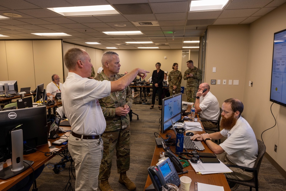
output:
[[[194,106],[196,113],[200,113],[201,120],[217,120],[219,117],[219,102],[210,92],[210,85],[207,83],[202,83],[198,86]],[[202,121],[202,125],[208,128],[217,127],[217,123],[211,121]]]

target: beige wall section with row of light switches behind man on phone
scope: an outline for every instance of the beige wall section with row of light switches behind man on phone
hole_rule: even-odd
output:
[[[221,80],[221,84],[210,84],[210,91],[220,106],[229,98],[243,101],[248,42],[249,25],[208,27],[205,82],[210,84],[211,80]],[[213,67],[216,72],[212,72]],[[223,80],[227,80],[226,85]],[[229,80],[239,80],[239,85],[228,85]]]

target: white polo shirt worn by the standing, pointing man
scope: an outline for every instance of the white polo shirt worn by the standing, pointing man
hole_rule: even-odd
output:
[[[110,81],[97,81],[68,73],[61,98],[72,131],[80,135],[101,135],[104,132],[106,121],[98,99],[109,96],[110,91]]]

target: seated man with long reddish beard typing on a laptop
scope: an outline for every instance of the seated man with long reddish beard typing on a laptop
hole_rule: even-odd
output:
[[[258,155],[258,145],[253,129],[241,117],[243,103],[238,99],[227,99],[223,102],[222,110],[220,125],[223,130],[211,134],[196,134],[191,139],[205,141],[206,145],[224,164],[253,168]],[[211,139],[221,139],[222,137],[227,137],[227,139],[219,145],[211,141]],[[232,173],[225,173],[225,176],[230,179],[251,180],[254,176],[253,172],[243,171],[240,168],[230,169],[233,171]],[[235,186],[238,185],[230,185],[233,188]]]

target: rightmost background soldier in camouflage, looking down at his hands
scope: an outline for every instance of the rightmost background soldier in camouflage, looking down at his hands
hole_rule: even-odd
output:
[[[196,101],[196,92],[198,91],[198,80],[202,79],[202,70],[194,66],[194,62],[192,60],[187,62],[187,67],[188,69],[183,77],[184,80],[187,80],[187,102],[194,103]]]

